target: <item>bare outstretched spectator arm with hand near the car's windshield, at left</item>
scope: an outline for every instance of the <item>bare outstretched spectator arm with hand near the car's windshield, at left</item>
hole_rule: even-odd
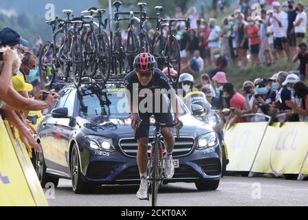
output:
[[[52,94],[54,89],[50,90],[50,94],[47,96],[46,100],[34,100],[32,98],[25,98],[21,96],[17,91],[9,86],[6,96],[0,94],[0,98],[8,104],[12,110],[43,110],[52,107],[58,100],[58,94]]]

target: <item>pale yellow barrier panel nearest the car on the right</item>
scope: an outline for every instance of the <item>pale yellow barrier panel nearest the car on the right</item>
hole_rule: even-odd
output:
[[[225,131],[224,140],[230,160],[227,170],[250,171],[266,126],[267,122],[239,123]]]

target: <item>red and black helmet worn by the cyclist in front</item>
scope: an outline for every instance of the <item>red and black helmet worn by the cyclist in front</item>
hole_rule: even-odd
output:
[[[137,72],[148,72],[156,67],[156,61],[153,55],[141,53],[135,57],[133,67]]]

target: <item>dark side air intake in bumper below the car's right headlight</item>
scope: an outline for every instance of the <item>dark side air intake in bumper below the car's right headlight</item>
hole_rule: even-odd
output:
[[[206,175],[214,176],[221,174],[221,162],[219,159],[198,159],[193,162],[200,166]]]

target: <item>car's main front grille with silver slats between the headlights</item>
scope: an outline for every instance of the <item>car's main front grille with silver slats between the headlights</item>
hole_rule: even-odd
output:
[[[151,153],[151,142],[153,137],[148,138],[148,154]],[[173,148],[173,157],[180,157],[187,155],[192,151],[194,146],[193,137],[175,137],[175,146]],[[119,146],[122,149],[123,153],[129,157],[137,157],[137,141],[135,138],[123,138],[119,142]]]

